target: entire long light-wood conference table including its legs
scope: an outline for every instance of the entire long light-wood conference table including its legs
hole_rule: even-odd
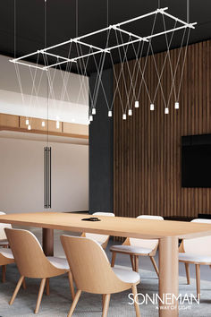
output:
[[[82,221],[81,218],[89,218],[89,216],[46,211],[3,215],[0,216],[0,223],[42,227],[43,248],[46,255],[54,253],[54,229],[159,239],[159,296],[162,299],[165,298],[165,294],[178,296],[179,293],[178,239],[211,236],[211,225],[207,224],[124,217],[98,217],[101,221],[90,222]],[[176,301],[173,304],[171,302],[172,300],[166,300],[165,307],[164,304],[160,304],[159,316],[178,316],[178,305]]]

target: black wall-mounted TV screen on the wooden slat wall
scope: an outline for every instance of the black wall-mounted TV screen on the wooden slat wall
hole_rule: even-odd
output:
[[[211,187],[211,134],[181,137],[181,187]]]

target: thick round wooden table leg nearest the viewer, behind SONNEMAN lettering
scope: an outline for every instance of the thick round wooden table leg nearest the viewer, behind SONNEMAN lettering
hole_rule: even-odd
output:
[[[159,296],[165,304],[159,304],[160,317],[177,317],[179,292],[178,238],[159,240]]]

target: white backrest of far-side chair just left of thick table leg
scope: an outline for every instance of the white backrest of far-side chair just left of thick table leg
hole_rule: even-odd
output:
[[[161,216],[150,216],[150,215],[141,215],[141,216],[138,216],[137,218],[148,219],[148,220],[164,220],[164,218]],[[130,238],[130,244],[134,246],[139,246],[142,248],[155,249],[158,245],[158,240]]]

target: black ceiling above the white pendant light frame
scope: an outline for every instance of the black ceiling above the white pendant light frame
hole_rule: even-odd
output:
[[[45,47],[44,37],[44,0],[16,1],[16,56],[22,56]],[[76,36],[76,1],[47,0],[46,7],[46,41],[47,46],[63,42]],[[160,6],[168,6],[169,13],[186,21],[186,0],[160,0]],[[138,15],[156,10],[157,0],[109,0],[109,24],[131,19]],[[107,24],[107,0],[78,0],[78,34],[105,28]],[[150,19],[148,20],[150,21]],[[190,0],[190,21],[197,21],[196,30],[190,32],[190,43],[211,39],[211,1]],[[142,35],[148,34],[148,25],[134,23],[132,31]],[[144,21],[144,23],[146,23]],[[150,27],[152,21],[150,22]],[[168,23],[168,21],[166,21]],[[170,24],[169,24],[170,26]],[[161,30],[161,21],[157,21],[156,30]],[[141,31],[140,31],[141,30]],[[173,38],[172,47],[180,47],[181,31]],[[102,45],[103,37],[93,38],[93,44]],[[65,50],[66,49],[66,50]],[[154,52],[166,50],[165,39],[160,38],[153,44]],[[56,51],[67,55],[67,47]],[[14,0],[0,1],[0,54],[14,56]],[[146,54],[146,51],[144,51]],[[134,58],[134,51],[129,49],[128,56]],[[110,59],[105,60],[109,67]],[[33,61],[33,58],[30,59]],[[52,60],[51,62],[55,62]],[[118,52],[114,54],[114,63],[121,62]],[[76,72],[76,68],[72,69]],[[95,72],[94,61],[89,63],[89,73]]]

